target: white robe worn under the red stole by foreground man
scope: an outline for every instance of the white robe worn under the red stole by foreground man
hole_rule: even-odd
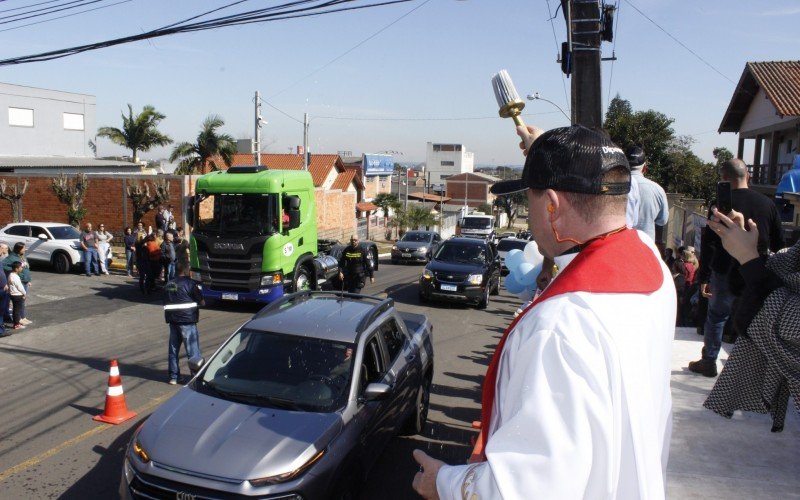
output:
[[[487,461],[442,467],[442,499],[664,498],[676,297],[661,267],[652,294],[564,293],[520,319],[500,361]]]

